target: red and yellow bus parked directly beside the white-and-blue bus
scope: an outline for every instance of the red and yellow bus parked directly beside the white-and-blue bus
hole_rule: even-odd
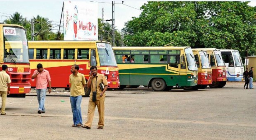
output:
[[[209,84],[212,88],[221,88],[226,85],[226,66],[224,64],[221,52],[215,48],[202,48],[207,52],[209,62],[212,68],[212,84]],[[206,87],[206,86],[205,86]]]

